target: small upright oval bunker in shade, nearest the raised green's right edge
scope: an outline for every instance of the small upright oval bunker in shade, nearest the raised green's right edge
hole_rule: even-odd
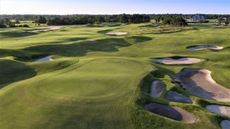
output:
[[[162,81],[153,81],[151,85],[150,95],[152,97],[159,97],[164,91],[166,84]]]

